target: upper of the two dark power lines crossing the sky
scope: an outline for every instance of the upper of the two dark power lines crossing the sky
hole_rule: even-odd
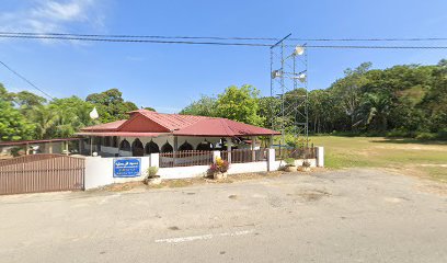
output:
[[[279,41],[277,37],[240,37],[240,36],[163,36],[163,35],[128,35],[128,34],[72,34],[72,33],[33,33],[33,32],[0,32],[2,35],[30,36],[74,36],[103,38],[159,38],[159,39],[219,39],[219,41]],[[447,37],[394,37],[394,38],[288,38],[301,42],[440,42]]]

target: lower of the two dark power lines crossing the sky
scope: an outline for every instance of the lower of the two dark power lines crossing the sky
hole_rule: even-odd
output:
[[[186,44],[186,45],[218,45],[218,46],[251,46],[271,47],[266,43],[237,43],[237,42],[193,42],[193,41],[159,41],[138,38],[96,38],[74,36],[45,36],[45,35],[1,35],[0,38],[32,38],[32,39],[58,39],[58,41],[87,41],[87,42],[112,42],[112,43],[152,43],[152,44]],[[355,48],[355,49],[447,49],[447,46],[371,46],[371,45],[307,45],[308,48]]]

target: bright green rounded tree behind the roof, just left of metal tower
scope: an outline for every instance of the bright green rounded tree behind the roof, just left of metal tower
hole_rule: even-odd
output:
[[[216,115],[252,125],[262,125],[264,118],[259,113],[260,92],[252,85],[228,87],[218,95]]]

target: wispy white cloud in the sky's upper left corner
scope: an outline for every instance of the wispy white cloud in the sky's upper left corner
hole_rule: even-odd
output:
[[[0,13],[2,32],[70,32],[77,28],[99,30],[104,27],[102,0],[49,0],[34,1],[21,10]]]

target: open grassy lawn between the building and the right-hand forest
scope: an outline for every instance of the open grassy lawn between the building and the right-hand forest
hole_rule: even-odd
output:
[[[311,141],[324,146],[328,168],[386,168],[447,183],[447,141],[340,136],[313,136]]]

